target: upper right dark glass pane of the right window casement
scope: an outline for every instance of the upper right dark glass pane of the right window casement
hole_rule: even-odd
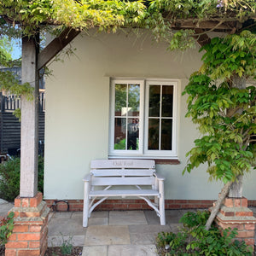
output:
[[[162,117],[172,117],[173,86],[162,86]]]

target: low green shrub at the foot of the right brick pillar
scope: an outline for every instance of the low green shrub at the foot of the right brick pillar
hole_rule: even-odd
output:
[[[236,229],[223,230],[223,236],[216,226],[205,229],[209,212],[187,212],[180,219],[183,229],[177,234],[161,232],[156,238],[160,255],[252,255],[252,248],[244,241],[234,241]]]

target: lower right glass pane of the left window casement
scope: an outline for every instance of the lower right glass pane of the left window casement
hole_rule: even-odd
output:
[[[139,120],[128,119],[128,137],[127,137],[127,149],[138,150],[139,146]]]

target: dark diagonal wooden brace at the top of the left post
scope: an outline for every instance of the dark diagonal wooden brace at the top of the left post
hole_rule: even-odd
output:
[[[44,67],[57,55],[61,49],[69,44],[73,38],[79,35],[79,30],[73,28],[66,28],[59,37],[52,40],[39,54],[38,54],[38,70]]]

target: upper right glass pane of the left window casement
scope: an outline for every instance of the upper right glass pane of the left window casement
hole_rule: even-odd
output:
[[[139,116],[140,109],[140,85],[128,85],[128,115]]]

